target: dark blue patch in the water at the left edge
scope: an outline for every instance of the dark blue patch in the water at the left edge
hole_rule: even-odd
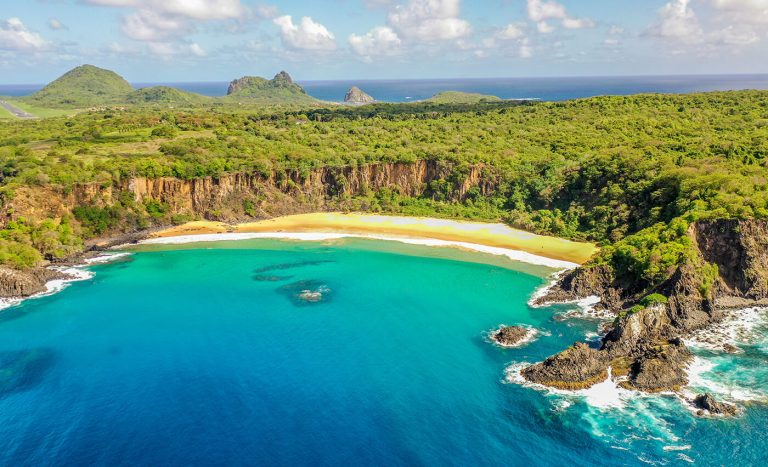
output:
[[[53,366],[47,348],[0,352],[0,397],[36,386]]]

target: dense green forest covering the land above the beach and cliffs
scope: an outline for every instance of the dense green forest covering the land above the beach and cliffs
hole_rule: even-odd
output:
[[[61,234],[46,241],[72,243],[61,249],[69,251],[94,235],[94,219],[109,232],[221,215],[116,196],[44,222],[40,212],[22,219],[13,210],[20,190],[285,169],[308,177],[322,167],[430,160],[444,176],[419,196],[392,186],[335,206],[504,220],[594,240],[613,245],[601,261],[658,281],[683,261],[680,229],[692,220],[768,217],[767,154],[768,92],[758,91],[259,113],[134,109],[9,122],[0,127],[0,261],[34,263],[39,256],[14,253],[27,247],[57,257],[35,240],[40,229]],[[464,190],[478,167],[487,189]],[[258,193],[246,201],[235,207],[242,215],[264,202]]]

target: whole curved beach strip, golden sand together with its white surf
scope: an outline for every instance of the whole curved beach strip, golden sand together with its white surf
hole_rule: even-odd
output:
[[[141,243],[178,244],[253,238],[323,241],[345,237],[462,248],[554,269],[578,267],[597,251],[597,247],[589,243],[536,235],[504,224],[358,213],[299,214],[238,225],[190,222],[155,232]]]

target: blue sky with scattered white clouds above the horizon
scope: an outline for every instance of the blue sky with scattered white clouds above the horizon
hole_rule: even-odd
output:
[[[768,0],[0,0],[0,84],[768,72]]]

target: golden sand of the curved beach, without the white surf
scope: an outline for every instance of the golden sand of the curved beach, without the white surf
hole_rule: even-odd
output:
[[[371,214],[314,213],[229,225],[197,221],[155,233],[152,238],[211,234],[327,233],[360,236],[434,239],[455,246],[479,245],[520,251],[564,263],[583,264],[596,251],[590,243],[536,235],[504,224]],[[478,249],[478,248],[473,248]]]

